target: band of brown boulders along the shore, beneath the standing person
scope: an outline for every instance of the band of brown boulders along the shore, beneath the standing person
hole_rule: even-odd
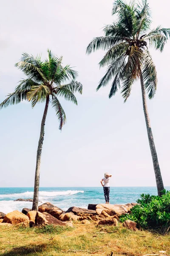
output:
[[[129,214],[136,203],[130,204],[89,204],[88,209],[79,207],[70,207],[67,211],[63,211],[59,207],[47,202],[38,207],[38,211],[32,211],[23,208],[22,212],[13,211],[7,214],[0,212],[0,226],[43,226],[43,225],[59,225],[74,227],[74,223],[91,224],[95,222],[97,225],[113,225],[117,226],[119,216]],[[123,226],[138,230],[136,223],[133,221],[125,221]]]

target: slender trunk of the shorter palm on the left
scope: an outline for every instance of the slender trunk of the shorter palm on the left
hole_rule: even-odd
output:
[[[42,151],[42,144],[43,144],[43,140],[44,140],[44,126],[45,126],[45,119],[46,119],[47,111],[48,111],[48,105],[49,105],[49,95],[47,96],[46,103],[45,103],[45,109],[44,109],[44,113],[42,116],[40,139],[39,139],[38,148],[37,148],[37,162],[36,162],[35,180],[34,180],[34,198],[33,198],[33,204],[32,204],[32,210],[35,210],[35,211],[38,210],[41,151]]]

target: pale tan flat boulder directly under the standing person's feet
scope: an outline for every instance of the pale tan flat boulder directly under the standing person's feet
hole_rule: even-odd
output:
[[[108,213],[108,215],[122,215],[125,214],[125,209],[122,205],[114,205],[114,204],[97,204],[96,205],[96,213],[99,215],[102,211]]]

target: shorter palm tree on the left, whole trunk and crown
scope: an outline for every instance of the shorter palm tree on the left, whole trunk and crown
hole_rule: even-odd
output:
[[[57,118],[59,119],[59,129],[61,130],[65,124],[66,116],[58,97],[63,97],[65,100],[77,105],[74,93],[79,92],[82,94],[82,84],[74,80],[77,72],[72,70],[69,65],[62,67],[62,57],[58,58],[49,50],[48,58],[45,61],[42,61],[40,56],[34,58],[32,55],[23,53],[21,61],[15,64],[15,66],[26,74],[27,79],[20,81],[14,93],[8,94],[8,97],[0,104],[0,109],[6,108],[8,105],[20,103],[23,100],[31,101],[32,108],[34,108],[36,103],[45,102],[37,148],[32,206],[32,210],[38,210],[40,162],[48,105],[51,103],[52,108],[56,111]]]

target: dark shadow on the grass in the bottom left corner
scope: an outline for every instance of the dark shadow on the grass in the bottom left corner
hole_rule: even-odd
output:
[[[14,247],[5,252],[0,252],[0,256],[25,256],[25,255],[36,255],[36,253],[45,252],[48,244],[30,244],[28,246]]]

